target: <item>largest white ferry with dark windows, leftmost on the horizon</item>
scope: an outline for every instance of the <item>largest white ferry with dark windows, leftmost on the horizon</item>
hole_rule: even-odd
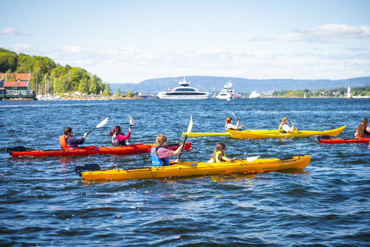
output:
[[[194,87],[189,87],[189,81],[185,81],[185,76],[179,85],[172,90],[158,93],[159,99],[171,100],[202,100],[211,99],[211,93],[196,90]]]

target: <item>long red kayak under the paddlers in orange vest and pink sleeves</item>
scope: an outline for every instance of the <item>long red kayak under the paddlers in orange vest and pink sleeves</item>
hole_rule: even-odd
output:
[[[97,147],[87,146],[76,149],[58,149],[58,150],[34,150],[26,151],[23,146],[7,148],[6,151],[12,157],[18,156],[77,156],[77,155],[93,155],[93,154],[136,154],[136,153],[147,153],[150,151],[154,144],[132,144],[122,147]],[[168,144],[168,149],[176,150],[180,143]],[[191,148],[191,142],[185,144],[185,150]]]

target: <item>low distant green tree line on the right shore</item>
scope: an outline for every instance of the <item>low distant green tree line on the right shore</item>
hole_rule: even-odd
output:
[[[306,94],[306,97],[320,97],[320,96],[327,96],[327,97],[340,97],[340,96],[347,96],[347,88],[341,87],[338,89],[316,89],[316,90],[282,90],[282,91],[274,91],[272,96],[277,97],[303,97]],[[352,87],[351,94],[353,96],[357,95],[370,95],[370,85],[365,87]]]

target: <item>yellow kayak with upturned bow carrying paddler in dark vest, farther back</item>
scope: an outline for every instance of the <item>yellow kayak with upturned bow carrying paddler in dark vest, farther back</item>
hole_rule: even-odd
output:
[[[252,133],[252,132],[242,132],[235,130],[228,130],[232,138],[284,138],[284,137],[308,137],[308,136],[336,136],[344,130],[347,126],[340,128],[334,128],[333,130],[325,131],[314,131],[314,130],[300,130],[293,131],[285,134],[279,133]]]

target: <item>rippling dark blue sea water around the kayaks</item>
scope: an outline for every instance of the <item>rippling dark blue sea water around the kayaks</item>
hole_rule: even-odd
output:
[[[229,157],[310,154],[309,166],[259,174],[86,182],[74,167],[150,163],[148,154],[12,158],[5,148],[59,148],[58,136],[93,131],[85,145],[109,146],[108,132],[128,117],[132,143],[159,133],[179,142],[190,115],[193,132],[223,131],[231,112],[247,128],[277,128],[283,116],[304,130],[351,137],[369,99],[217,99],[200,101],[0,101],[0,245],[4,246],[343,246],[370,244],[369,149],[319,144],[316,137],[196,137],[182,160],[208,160],[216,143]]]

